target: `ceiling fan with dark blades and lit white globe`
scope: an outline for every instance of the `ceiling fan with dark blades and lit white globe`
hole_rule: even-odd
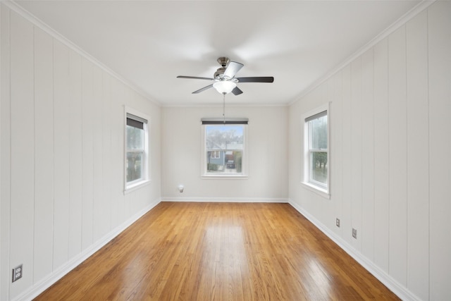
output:
[[[199,78],[197,76],[184,76],[179,75],[177,78],[191,78],[194,80],[213,80],[214,83],[203,87],[202,89],[192,92],[192,94],[197,94],[202,91],[208,90],[214,87],[216,91],[221,94],[228,94],[232,92],[235,95],[242,94],[242,90],[237,87],[238,82],[273,82],[274,78],[272,76],[259,76],[251,78],[235,78],[235,74],[244,66],[242,63],[237,63],[235,61],[230,61],[227,57],[221,56],[218,60],[221,68],[218,68],[213,75],[213,78]]]

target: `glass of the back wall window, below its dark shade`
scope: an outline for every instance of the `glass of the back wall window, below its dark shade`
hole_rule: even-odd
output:
[[[206,125],[206,172],[242,173],[244,125]]]

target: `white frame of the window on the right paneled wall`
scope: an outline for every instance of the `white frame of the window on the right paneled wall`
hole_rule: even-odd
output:
[[[309,118],[326,111],[327,116],[327,149],[311,149],[311,127]],[[322,106],[317,107],[307,113],[304,113],[302,116],[302,126],[304,133],[304,145],[303,145],[303,177],[302,184],[305,188],[330,199],[330,105],[329,103],[323,104]],[[312,174],[312,163],[311,163],[311,154],[314,152],[326,152],[327,153],[327,180],[326,185],[311,178]]]

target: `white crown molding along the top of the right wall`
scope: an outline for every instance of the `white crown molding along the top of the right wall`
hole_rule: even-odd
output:
[[[373,39],[371,39],[371,41],[364,44],[363,47],[361,47],[360,49],[355,51],[354,54],[352,54],[350,57],[348,57],[347,59],[342,61],[342,63],[338,64],[338,66],[335,66],[335,68],[333,68],[328,73],[321,76],[321,78],[319,78],[318,80],[313,82],[311,85],[309,85],[309,87],[307,87],[306,89],[304,89],[304,91],[302,91],[299,95],[297,95],[297,97],[295,97],[295,99],[292,100],[292,102],[288,102],[288,106],[291,106],[292,104],[295,104],[296,102],[298,102],[300,99],[302,99],[307,94],[309,94],[311,91],[313,91],[316,87],[321,85],[323,82],[326,82],[326,80],[328,80],[333,75],[335,75],[335,73],[338,73],[338,71],[342,70],[342,68],[345,68],[347,65],[352,63],[352,61],[354,61],[359,56],[364,54],[366,51],[371,49],[371,47],[374,47],[376,44],[378,44],[378,42],[381,42],[383,39],[385,39],[385,37],[388,37],[390,34],[395,32],[395,30],[397,30],[402,25],[407,23],[407,21],[411,20],[412,18],[414,18],[414,16],[421,13],[421,11],[424,11],[426,8],[428,8],[428,6],[431,6],[431,4],[433,4],[435,1],[436,0],[422,0],[414,8],[412,8],[410,11],[407,11],[407,13],[404,13],[404,15],[402,15],[400,18],[398,18],[395,21],[395,23],[393,23],[392,25],[385,28],[385,30],[383,30],[381,33],[376,35],[376,37],[373,37]]]

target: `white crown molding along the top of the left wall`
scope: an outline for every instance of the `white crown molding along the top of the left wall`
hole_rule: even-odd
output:
[[[137,87],[137,85],[134,85],[132,82],[130,82],[129,80],[126,80],[121,75],[118,75],[118,73],[114,72],[113,70],[108,68],[106,65],[104,65],[103,63],[101,63],[100,61],[95,59],[94,56],[88,54],[85,50],[83,50],[80,47],[78,47],[76,44],[71,42],[68,38],[66,38],[63,35],[61,35],[59,32],[57,32],[56,30],[51,28],[49,25],[44,23],[42,20],[39,20],[39,18],[37,18],[36,16],[33,16],[25,8],[20,6],[20,4],[18,4],[18,2],[14,1],[14,0],[2,0],[1,3],[5,4],[6,6],[8,6],[8,8],[10,8],[12,11],[18,13],[20,16],[22,16],[23,18],[28,20],[33,25],[35,25],[35,26],[39,27],[40,29],[44,30],[44,32],[47,32],[47,34],[49,34],[51,37],[53,37],[54,39],[57,39],[59,42],[63,43],[64,45],[66,45],[67,47],[72,49],[73,51],[77,52],[78,54],[83,56],[88,61],[91,61],[96,66],[98,66],[99,68],[103,69],[106,73],[109,73],[111,76],[113,76],[117,80],[123,82],[123,84],[127,85],[132,90],[134,90],[135,92],[140,94],[142,97],[144,97],[145,99],[149,100],[149,102],[152,102],[156,106],[161,106],[161,104],[159,102],[157,102],[155,99],[153,99],[150,96],[150,94],[148,94],[147,92],[144,92],[144,90],[142,90],[140,87]]]

